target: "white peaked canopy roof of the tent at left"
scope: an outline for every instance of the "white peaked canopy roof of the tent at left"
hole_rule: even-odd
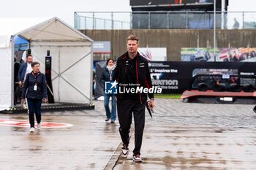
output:
[[[40,40],[86,40],[88,36],[67,25],[59,18],[0,18],[0,36],[18,35],[27,41]]]

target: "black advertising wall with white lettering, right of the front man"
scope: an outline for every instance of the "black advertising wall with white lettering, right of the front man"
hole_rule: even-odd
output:
[[[162,93],[183,93],[184,90],[197,88],[198,83],[202,81],[230,85],[239,80],[239,85],[244,87],[255,85],[255,62],[151,61],[148,66],[153,86],[162,88]],[[192,83],[193,77],[198,75],[203,76]],[[238,78],[238,76],[244,77]]]

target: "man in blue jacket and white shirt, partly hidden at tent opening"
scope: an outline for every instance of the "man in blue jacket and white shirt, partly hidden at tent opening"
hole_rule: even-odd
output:
[[[32,72],[31,63],[33,62],[33,56],[31,54],[26,55],[26,63],[21,64],[20,69],[18,71],[18,84],[22,87],[24,81],[26,80],[26,74]],[[20,104],[23,109],[27,109],[25,105],[25,100],[21,101]]]

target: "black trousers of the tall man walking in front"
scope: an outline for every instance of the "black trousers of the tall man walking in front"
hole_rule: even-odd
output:
[[[140,103],[139,100],[125,99],[117,101],[118,120],[120,124],[119,132],[124,144],[129,143],[129,129],[132,123],[132,112],[135,120],[135,149],[134,153],[140,154],[140,147],[143,139],[145,125],[146,102]]]

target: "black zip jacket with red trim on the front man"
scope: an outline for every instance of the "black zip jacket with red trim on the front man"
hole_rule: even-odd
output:
[[[116,61],[116,68],[114,71],[113,75],[113,80],[116,80],[118,82],[118,86],[120,84],[129,84],[129,80],[131,77],[129,77],[129,74],[127,73],[128,69],[127,68],[129,65],[127,64],[130,61],[128,52],[124,53],[121,55],[117,61]],[[137,53],[135,56],[135,81],[136,81],[136,86],[138,88],[152,88],[152,82],[151,82],[151,77],[148,69],[148,61],[146,58],[143,58],[143,56],[140,55],[140,53]],[[136,87],[136,88],[137,88]],[[127,88],[127,87],[126,87]],[[117,94],[117,99],[120,101],[122,98],[126,97],[125,93],[119,93]],[[138,93],[138,98],[140,100],[140,103],[143,103],[147,101],[147,95],[149,98],[154,98],[153,93]]]

